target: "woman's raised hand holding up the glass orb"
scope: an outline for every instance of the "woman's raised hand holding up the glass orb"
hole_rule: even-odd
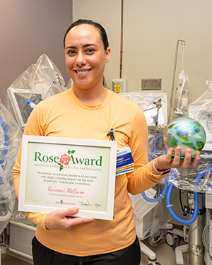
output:
[[[180,154],[181,154],[181,148],[178,146],[175,149],[175,156],[172,159],[172,153],[173,148],[170,148],[167,151],[166,155],[160,155],[156,160],[154,161],[155,169],[158,171],[167,170],[171,167],[177,167],[177,168],[189,168],[189,167],[198,167],[200,163],[200,152],[196,152],[194,161],[192,161],[192,151],[190,149],[187,149],[184,160],[180,161]]]

